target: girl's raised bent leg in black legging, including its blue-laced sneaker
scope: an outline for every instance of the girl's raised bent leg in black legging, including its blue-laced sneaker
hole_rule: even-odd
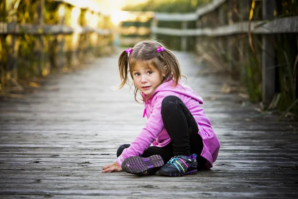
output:
[[[159,170],[159,174],[165,176],[194,174],[198,167],[206,163],[205,158],[200,156],[204,145],[198,134],[197,122],[183,101],[175,96],[164,98],[161,103],[161,116],[171,138],[175,158],[165,164]],[[191,155],[192,153],[197,154],[198,158]]]

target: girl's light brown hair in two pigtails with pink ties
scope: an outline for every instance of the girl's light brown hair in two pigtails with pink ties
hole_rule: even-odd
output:
[[[164,50],[157,52],[158,47],[163,47]],[[126,84],[132,87],[128,80],[128,73],[130,73],[133,79],[133,71],[137,64],[145,68],[150,68],[153,66],[159,72],[161,79],[160,85],[164,82],[173,80],[174,86],[176,86],[179,79],[181,78],[178,60],[170,50],[166,49],[164,45],[157,41],[141,41],[132,48],[132,52],[129,54],[129,56],[126,51],[123,51],[119,56],[118,65],[121,84],[118,86],[118,89],[121,89]],[[162,74],[165,76],[163,77]],[[136,87],[134,92],[136,101],[138,101],[138,93],[139,90]],[[152,93],[149,94],[145,100],[149,99]]]

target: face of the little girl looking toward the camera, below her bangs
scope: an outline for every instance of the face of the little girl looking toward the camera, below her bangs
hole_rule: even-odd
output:
[[[149,95],[161,83],[159,72],[151,66],[149,69],[137,64],[133,70],[136,87],[145,95]]]

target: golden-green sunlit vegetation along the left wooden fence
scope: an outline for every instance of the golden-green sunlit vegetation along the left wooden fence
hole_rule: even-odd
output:
[[[9,4],[6,4],[9,2]],[[0,1],[0,22],[17,24],[72,26],[74,6],[62,1],[45,0],[44,20],[37,13],[39,0]],[[87,25],[85,9],[79,13],[77,24]],[[90,17],[90,13],[88,13]],[[98,28],[110,28],[108,17],[98,14]],[[20,34],[0,34],[0,95],[24,91],[29,86],[38,87],[39,79],[54,71],[71,71],[82,67],[86,59],[100,55],[103,46],[111,46],[112,36],[97,33],[82,34],[31,34],[21,29]],[[109,48],[107,48],[109,49]],[[108,51],[108,50],[107,50]]]

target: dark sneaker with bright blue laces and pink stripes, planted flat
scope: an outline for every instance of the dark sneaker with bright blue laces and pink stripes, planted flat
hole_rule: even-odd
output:
[[[162,176],[184,176],[197,173],[197,155],[178,155],[171,158],[167,164],[163,165],[158,173]]]

